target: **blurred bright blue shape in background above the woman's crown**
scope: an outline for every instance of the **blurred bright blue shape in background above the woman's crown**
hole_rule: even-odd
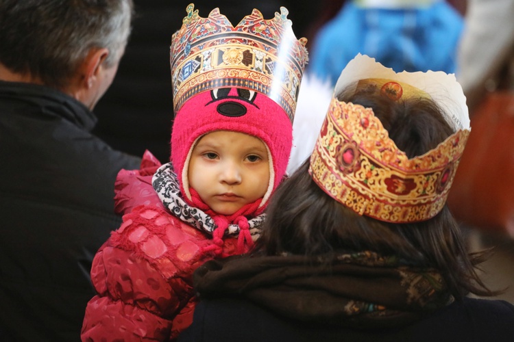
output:
[[[387,7],[391,1],[360,4],[366,2],[369,1],[348,1],[319,29],[310,51],[311,73],[335,83],[357,53],[374,57],[396,72],[455,73],[463,18],[450,4],[446,1],[414,1],[419,5],[404,7]]]

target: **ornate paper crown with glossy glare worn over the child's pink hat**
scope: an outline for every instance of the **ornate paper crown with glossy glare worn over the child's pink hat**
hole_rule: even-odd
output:
[[[198,16],[191,3],[171,38],[175,113],[188,98],[214,88],[245,88],[265,94],[293,121],[299,84],[308,60],[306,38],[297,40],[286,8],[271,20],[258,10],[234,27],[212,10]]]

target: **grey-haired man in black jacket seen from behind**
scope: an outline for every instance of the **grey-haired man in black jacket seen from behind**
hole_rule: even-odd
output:
[[[114,180],[140,159],[91,135],[132,0],[0,1],[0,340],[78,341]]]

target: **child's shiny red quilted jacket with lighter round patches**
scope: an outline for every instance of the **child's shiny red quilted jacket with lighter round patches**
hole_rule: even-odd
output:
[[[117,211],[123,224],[99,249],[82,341],[169,341],[187,328],[196,304],[193,271],[215,258],[212,236],[164,208],[151,187],[160,163],[146,154],[140,170],[120,172]],[[224,255],[237,239],[223,240]]]

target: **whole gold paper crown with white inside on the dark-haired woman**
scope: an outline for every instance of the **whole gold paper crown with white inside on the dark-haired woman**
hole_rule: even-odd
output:
[[[349,88],[393,100],[429,97],[450,114],[446,119],[456,133],[408,159],[371,108],[337,100],[335,95]],[[336,84],[309,172],[324,192],[359,215],[395,223],[428,220],[445,205],[469,131],[465,96],[454,75],[397,74],[358,55]]]

